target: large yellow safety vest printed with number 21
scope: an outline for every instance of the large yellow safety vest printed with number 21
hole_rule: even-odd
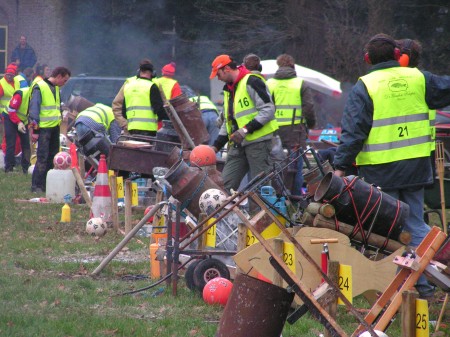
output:
[[[394,67],[362,76],[373,101],[373,124],[358,165],[428,157],[431,131],[425,77],[414,68]]]

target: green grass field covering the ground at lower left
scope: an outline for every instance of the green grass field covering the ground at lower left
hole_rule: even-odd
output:
[[[119,254],[140,258],[114,260],[92,277],[123,236],[112,230],[99,240],[89,236],[85,205],[71,205],[71,223],[61,224],[62,204],[17,201],[36,197],[30,186],[30,176],[0,172],[0,336],[215,335],[223,308],[205,304],[183,279],[176,296],[165,283],[120,295],[153,282],[141,277],[150,273],[148,238],[132,239]],[[142,210],[134,211],[134,222],[142,216]],[[358,298],[355,306],[368,304]],[[348,333],[357,326],[344,308],[337,320]],[[283,336],[313,337],[324,330],[307,314],[286,324]],[[399,317],[388,334],[400,336]]]

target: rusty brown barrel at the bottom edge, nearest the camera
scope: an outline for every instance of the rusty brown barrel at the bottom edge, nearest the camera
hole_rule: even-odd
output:
[[[216,337],[280,337],[294,293],[238,274]]]

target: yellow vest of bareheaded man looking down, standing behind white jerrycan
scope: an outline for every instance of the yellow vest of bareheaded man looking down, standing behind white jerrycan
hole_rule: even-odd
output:
[[[35,85],[41,90],[42,102],[39,115],[39,127],[51,128],[61,124],[61,101],[59,98],[59,87],[55,86],[55,95],[45,81],[39,81]],[[31,89],[33,90],[33,89]]]

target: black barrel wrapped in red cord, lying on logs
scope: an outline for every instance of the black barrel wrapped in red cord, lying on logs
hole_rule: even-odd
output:
[[[352,186],[348,189],[347,185]],[[376,186],[357,176],[342,178],[332,172],[327,173],[320,182],[314,200],[326,200],[332,204],[336,209],[337,219],[352,226],[357,224],[358,216],[364,218],[367,215],[363,224],[365,230],[372,227],[373,233],[394,240],[398,239],[409,215],[408,204],[382,192]]]

